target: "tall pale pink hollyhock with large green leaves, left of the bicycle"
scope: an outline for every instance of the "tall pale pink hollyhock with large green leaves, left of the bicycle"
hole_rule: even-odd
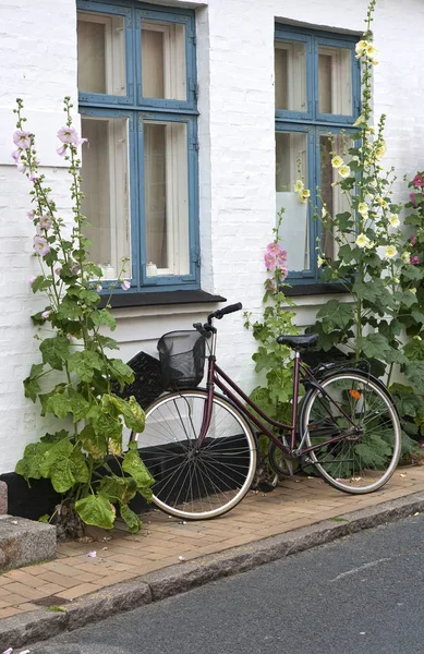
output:
[[[71,130],[69,98],[64,105],[66,128]],[[22,100],[17,100],[16,126],[24,131],[22,108]],[[120,359],[106,354],[106,350],[117,350],[118,344],[100,334],[100,329],[113,330],[116,320],[109,303],[99,308],[102,272],[89,262],[90,242],[84,237],[77,145],[77,136],[63,144],[74,203],[74,223],[66,237],[51,189],[38,170],[34,135],[27,133],[26,144],[19,148],[25,174],[33,183],[34,244],[40,274],[33,279],[32,290],[47,298],[45,311],[32,316],[38,328],[41,362],[32,365],[24,380],[25,397],[39,402],[41,415],[65,420],[69,428],[27,445],[15,470],[28,483],[32,479],[49,479],[86,524],[111,529],[119,508],[129,530],[136,532],[141,521],[128,505],[137,493],[150,500],[154,480],[135,444],[123,455],[122,440],[124,426],[143,432],[145,416],[133,397],[123,400],[111,391],[112,385],[122,389],[134,375]],[[125,262],[118,280],[121,282],[124,266]],[[51,373],[53,382],[49,385]],[[109,468],[110,457],[116,459],[120,474]]]

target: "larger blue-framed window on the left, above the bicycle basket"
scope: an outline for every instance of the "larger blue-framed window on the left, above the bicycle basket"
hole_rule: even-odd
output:
[[[194,13],[135,0],[77,8],[90,258],[132,291],[196,289]]]

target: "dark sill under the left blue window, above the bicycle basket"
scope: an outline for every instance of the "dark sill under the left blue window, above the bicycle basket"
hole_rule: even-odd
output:
[[[205,302],[226,302],[222,295],[213,295],[206,291],[156,291],[153,293],[117,293],[112,295],[110,305],[112,308],[126,308],[132,306],[159,306],[169,304],[198,304]],[[104,298],[99,307],[106,306],[107,298]]]

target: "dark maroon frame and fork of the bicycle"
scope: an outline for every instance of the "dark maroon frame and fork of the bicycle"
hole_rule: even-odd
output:
[[[249,417],[249,420],[261,429],[261,433],[265,434],[275,445],[278,447],[287,457],[299,457],[301,455],[305,455],[312,450],[322,448],[323,446],[329,445],[331,443],[336,443],[338,440],[342,440],[346,438],[346,433],[339,436],[335,436],[334,438],[329,438],[328,440],[320,443],[318,445],[314,445],[311,447],[304,448],[304,441],[306,439],[306,434],[301,434],[299,447],[296,447],[296,432],[298,432],[298,402],[299,402],[299,383],[303,379],[307,379],[308,384],[312,387],[320,389],[322,393],[325,395],[329,402],[338,408],[343,417],[348,420],[352,427],[354,427],[354,423],[347,415],[343,409],[327,393],[325,388],[323,388],[318,380],[314,377],[313,373],[303,364],[300,353],[295,352],[294,358],[294,375],[293,375],[293,401],[292,401],[292,416],[291,424],[286,424],[279,421],[276,421],[264,411],[253,401],[246,393],[229,377],[222,368],[216,363],[216,339],[217,331],[215,328],[210,329],[211,332],[211,344],[210,344],[210,353],[208,355],[208,368],[207,368],[207,383],[206,389],[208,393],[207,402],[205,404],[204,416],[202,422],[202,428],[198,437],[198,447],[202,447],[204,439],[206,438],[206,434],[208,432],[211,419],[213,411],[213,396],[215,391],[215,387],[217,386],[222,393],[243,413]],[[231,390],[232,389],[232,390]],[[233,392],[234,391],[234,392]],[[243,402],[239,399],[241,398]],[[251,411],[247,407],[250,407],[253,411]],[[254,413],[253,413],[254,412]],[[261,416],[257,417],[257,415]],[[330,413],[329,413],[330,415]],[[263,422],[264,421],[264,422]],[[277,428],[281,435],[286,432],[290,434],[289,446],[287,447],[272,432],[270,428],[266,426],[268,425]]]

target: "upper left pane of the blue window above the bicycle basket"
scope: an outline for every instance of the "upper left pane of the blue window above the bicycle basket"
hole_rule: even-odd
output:
[[[78,12],[78,90],[126,95],[122,16]]]

